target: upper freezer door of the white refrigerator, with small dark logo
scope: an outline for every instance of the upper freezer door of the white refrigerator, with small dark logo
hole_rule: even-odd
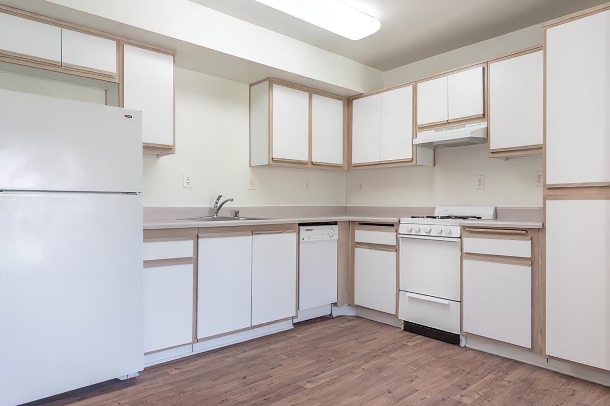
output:
[[[142,112],[0,89],[2,189],[141,192]]]

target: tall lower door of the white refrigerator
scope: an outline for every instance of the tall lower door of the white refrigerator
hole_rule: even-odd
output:
[[[0,193],[0,406],[143,369],[142,197]]]

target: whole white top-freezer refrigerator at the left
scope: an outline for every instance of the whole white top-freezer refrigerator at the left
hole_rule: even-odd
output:
[[[143,369],[142,113],[0,90],[0,405]]]

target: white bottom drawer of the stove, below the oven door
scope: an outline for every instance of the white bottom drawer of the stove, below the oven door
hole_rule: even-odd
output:
[[[438,299],[401,290],[398,299],[398,318],[460,334],[460,303],[453,300]]]

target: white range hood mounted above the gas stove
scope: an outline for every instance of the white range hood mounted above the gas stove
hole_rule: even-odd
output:
[[[464,145],[485,144],[487,142],[487,122],[462,124],[436,130],[418,131],[413,144],[418,147],[435,149],[438,147],[463,147]]]

